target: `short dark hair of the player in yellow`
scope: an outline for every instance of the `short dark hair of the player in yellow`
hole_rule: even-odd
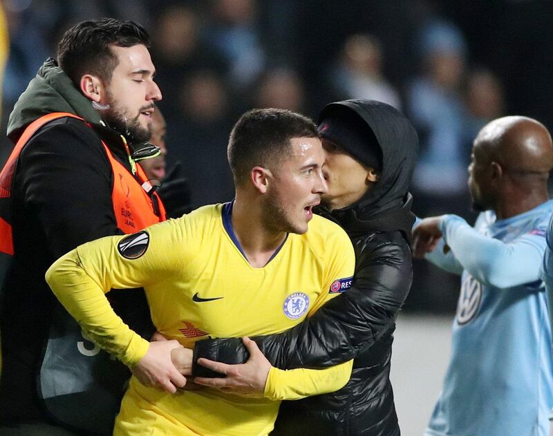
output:
[[[252,109],[230,133],[227,156],[237,186],[254,167],[268,168],[292,154],[292,138],[317,138],[317,126],[308,117],[285,109]]]

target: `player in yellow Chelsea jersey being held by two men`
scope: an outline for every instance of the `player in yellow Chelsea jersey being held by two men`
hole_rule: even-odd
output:
[[[351,361],[289,371],[265,361],[261,398],[177,390],[185,379],[171,350],[193,348],[207,335],[287,330],[337,296],[333,284],[353,276],[348,236],[312,214],[327,190],[315,124],[290,111],[247,112],[234,126],[228,156],[234,202],[87,243],[48,269],[48,284],[68,312],[133,371],[115,435],[267,435],[279,400],[332,392],[350,377]],[[169,341],[142,339],[104,296],[111,288],[138,286]]]

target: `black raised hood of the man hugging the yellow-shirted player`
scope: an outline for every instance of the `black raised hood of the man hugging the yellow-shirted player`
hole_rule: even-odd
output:
[[[396,108],[375,100],[351,99],[326,105],[319,122],[328,117],[357,114],[373,131],[382,149],[382,173],[378,182],[359,201],[332,211],[349,234],[359,231],[400,230],[411,240],[411,176],[417,160],[418,135]],[[410,224],[409,224],[410,223]]]

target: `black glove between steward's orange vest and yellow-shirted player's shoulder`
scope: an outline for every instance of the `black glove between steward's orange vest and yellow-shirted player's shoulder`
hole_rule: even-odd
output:
[[[182,165],[177,162],[156,191],[165,206],[167,218],[178,218],[192,210],[190,187],[180,173]]]

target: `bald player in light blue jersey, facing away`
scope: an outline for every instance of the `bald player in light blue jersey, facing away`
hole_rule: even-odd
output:
[[[487,124],[474,141],[474,227],[454,215],[415,228],[415,256],[461,275],[451,359],[425,436],[547,436],[553,355],[539,270],[553,212],[553,146],[526,117]]]

